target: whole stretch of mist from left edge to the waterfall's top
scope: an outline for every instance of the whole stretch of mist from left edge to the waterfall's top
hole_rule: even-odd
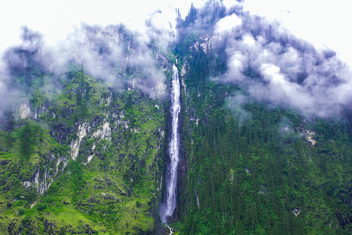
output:
[[[174,35],[170,25],[164,28],[153,23],[156,15],[146,20],[144,33],[124,24],[81,23],[55,46],[46,44],[42,33],[23,26],[21,43],[7,48],[0,62],[0,92],[6,97],[0,113],[28,101],[44,75],[50,76],[52,87],[59,86],[58,78],[72,63],[118,89],[128,86],[150,97],[163,97],[163,69],[170,66],[166,53]]]

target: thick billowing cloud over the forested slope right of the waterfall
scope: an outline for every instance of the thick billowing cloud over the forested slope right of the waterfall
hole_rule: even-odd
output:
[[[212,35],[213,45],[227,55],[226,73],[214,80],[237,84],[257,99],[307,116],[335,116],[351,106],[350,69],[334,51],[315,49],[277,21],[237,9],[215,24]]]

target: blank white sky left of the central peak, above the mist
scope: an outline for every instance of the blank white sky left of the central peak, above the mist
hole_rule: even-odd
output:
[[[151,12],[159,9],[163,12],[154,20],[157,26],[169,26],[169,21],[175,26],[175,8],[180,7],[184,18],[191,2],[195,7],[202,4],[201,0],[188,1],[109,1],[98,3],[87,1],[5,1],[0,8],[0,51],[6,47],[19,44],[18,38],[21,25],[27,25],[33,30],[45,34],[47,43],[54,45],[58,40],[73,32],[73,26],[79,26],[81,21],[88,24],[119,24],[124,23],[130,29],[144,32],[145,19]]]

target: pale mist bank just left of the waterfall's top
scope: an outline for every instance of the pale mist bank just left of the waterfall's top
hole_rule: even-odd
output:
[[[55,49],[59,60],[55,58],[56,64],[52,64],[52,69],[60,70],[67,62],[73,61],[82,64],[92,76],[114,86],[128,83],[151,96],[162,95],[161,90],[153,91],[165,80],[153,52],[159,52],[159,55],[165,53],[172,39],[169,35],[163,38],[165,32],[155,32],[151,26],[152,23],[149,23],[149,34],[142,35],[123,24],[103,27],[82,23],[81,27],[58,43]],[[152,41],[156,48],[150,48]]]

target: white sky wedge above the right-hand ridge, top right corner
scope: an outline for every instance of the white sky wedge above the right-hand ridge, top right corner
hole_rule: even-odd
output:
[[[278,19],[296,37],[316,48],[331,48],[352,66],[352,2],[346,0],[245,0],[252,14]],[[289,11],[289,12],[287,12]]]

